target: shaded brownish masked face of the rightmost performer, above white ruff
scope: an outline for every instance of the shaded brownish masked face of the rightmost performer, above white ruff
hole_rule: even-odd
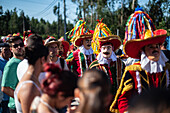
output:
[[[159,44],[149,44],[144,47],[144,52],[149,60],[158,61],[160,57],[160,45]]]

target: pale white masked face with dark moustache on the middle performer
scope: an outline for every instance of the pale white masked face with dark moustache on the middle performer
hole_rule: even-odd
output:
[[[110,58],[112,51],[113,51],[113,47],[111,44],[103,45],[101,47],[101,52],[102,52],[104,58]]]

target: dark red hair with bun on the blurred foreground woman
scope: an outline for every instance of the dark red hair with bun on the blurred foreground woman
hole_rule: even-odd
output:
[[[44,93],[55,97],[59,91],[64,97],[74,96],[74,89],[77,88],[78,77],[71,71],[61,71],[54,63],[44,64],[44,71],[47,72],[41,87]]]

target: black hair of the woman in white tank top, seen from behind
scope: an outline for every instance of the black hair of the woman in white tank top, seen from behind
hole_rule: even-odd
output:
[[[39,58],[43,56],[47,60],[48,48],[42,44],[34,46],[28,46],[25,48],[25,58],[28,59],[28,63],[34,65]]]

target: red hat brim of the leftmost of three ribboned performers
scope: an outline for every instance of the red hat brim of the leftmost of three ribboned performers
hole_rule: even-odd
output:
[[[82,40],[84,39],[88,39],[88,38],[92,38],[93,34],[87,34],[87,35],[80,35],[78,37],[76,37],[75,41],[74,41],[74,45],[79,47],[82,45]]]

